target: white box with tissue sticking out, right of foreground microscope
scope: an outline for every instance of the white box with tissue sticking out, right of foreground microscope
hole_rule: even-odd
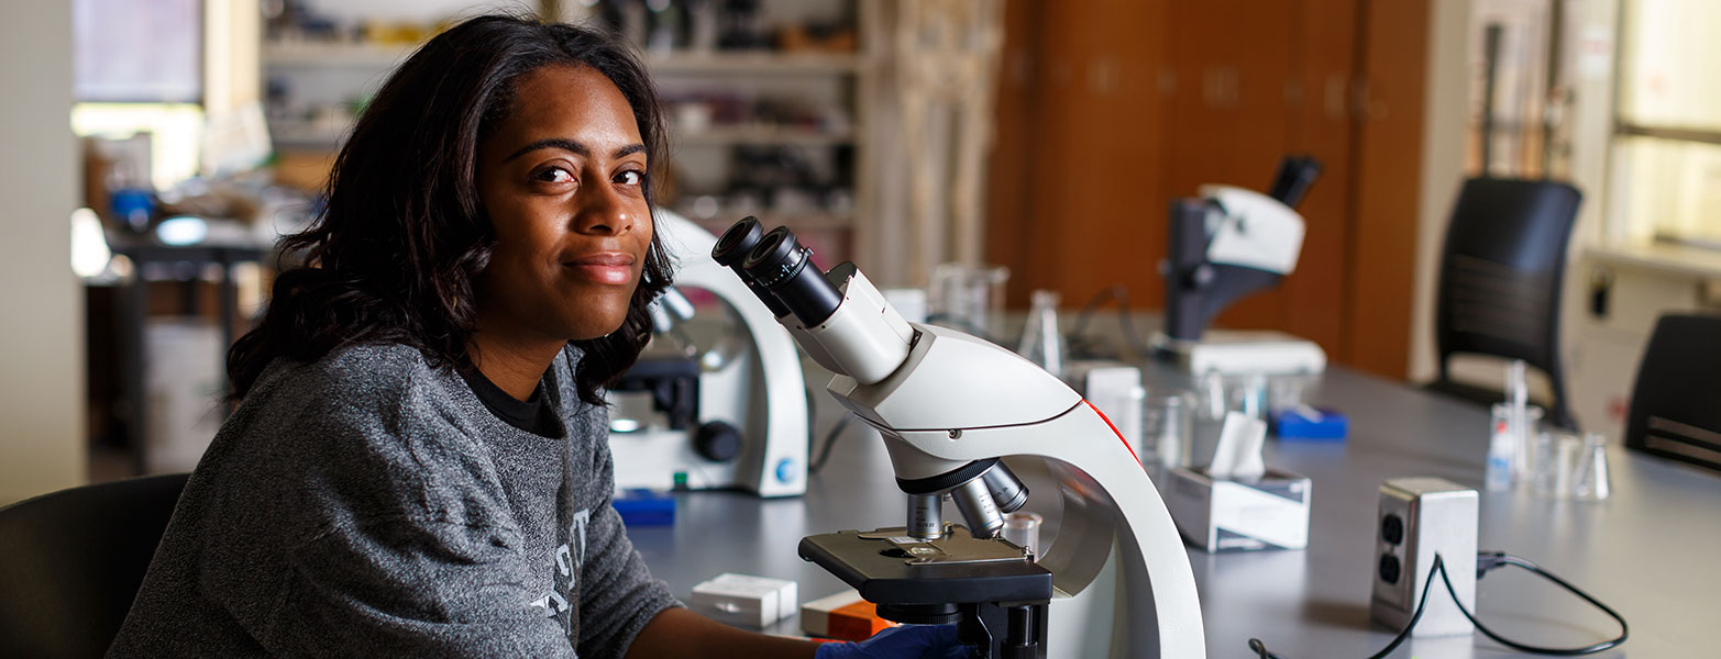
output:
[[[1275,468],[1241,480],[1179,466],[1163,487],[1177,532],[1206,552],[1306,549],[1311,490],[1308,477]]]

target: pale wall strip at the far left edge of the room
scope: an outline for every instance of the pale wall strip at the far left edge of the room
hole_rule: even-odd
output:
[[[84,293],[71,268],[77,181],[72,10],[0,21],[0,504],[84,482]]]

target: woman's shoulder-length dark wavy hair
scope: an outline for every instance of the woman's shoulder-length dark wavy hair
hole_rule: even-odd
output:
[[[478,200],[477,151],[513,108],[521,76],[552,64],[583,65],[621,89],[652,174],[666,162],[663,108],[640,60],[616,38],[578,26],[484,15],[418,48],[358,117],[325,188],[327,208],[281,239],[303,255],[274,284],[256,329],[227,351],[232,397],[243,397],[275,358],[315,361],[346,344],[406,344],[435,366],[466,360],[478,274],[496,231]],[[601,387],[638,358],[651,337],[647,303],[669,286],[671,263],[652,234],[642,280],[621,329],[590,341],[575,387],[602,404]]]

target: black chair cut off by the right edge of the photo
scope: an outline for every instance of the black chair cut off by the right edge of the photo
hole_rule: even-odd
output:
[[[1721,317],[1656,322],[1637,366],[1625,446],[1721,471]]]

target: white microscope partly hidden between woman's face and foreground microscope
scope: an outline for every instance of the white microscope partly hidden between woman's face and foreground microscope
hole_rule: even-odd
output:
[[[657,239],[678,263],[676,289],[711,293],[721,305],[700,339],[685,339],[694,305],[671,289],[654,303],[657,339],[688,353],[652,349],[611,387],[609,451],[616,490],[740,487],[762,497],[807,490],[807,384],[800,354],[776,315],[711,260],[716,236],[687,219],[654,213]],[[699,327],[692,329],[700,334]],[[683,339],[678,339],[683,337]]]

